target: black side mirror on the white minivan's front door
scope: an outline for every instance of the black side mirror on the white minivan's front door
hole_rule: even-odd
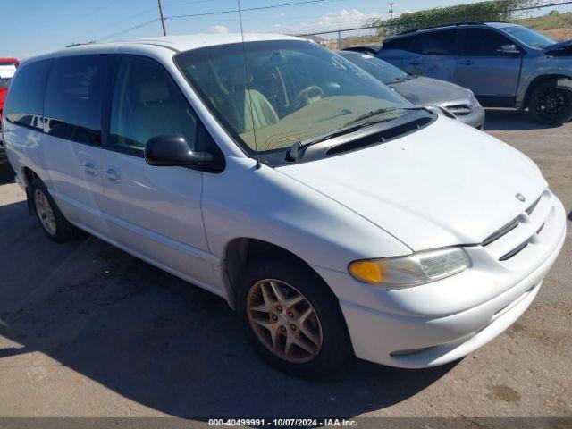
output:
[[[145,161],[157,167],[210,167],[214,164],[214,156],[190,150],[187,140],[182,136],[157,136],[147,141]]]

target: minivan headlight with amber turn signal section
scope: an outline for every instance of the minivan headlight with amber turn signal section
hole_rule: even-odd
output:
[[[407,257],[354,261],[348,265],[348,270],[362,282],[405,288],[444,279],[470,265],[471,260],[462,248],[442,248]]]

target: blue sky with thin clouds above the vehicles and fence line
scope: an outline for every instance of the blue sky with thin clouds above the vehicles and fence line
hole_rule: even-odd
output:
[[[243,9],[305,0],[241,0]],[[306,0],[307,1],[307,0]],[[389,1],[313,0],[314,3],[243,13],[246,31],[308,33],[363,25],[388,16]],[[472,0],[393,0],[396,13]],[[169,34],[240,30],[236,0],[163,0]],[[157,0],[2,0],[0,57],[32,55],[90,40],[160,36]],[[215,13],[215,14],[205,14]],[[181,15],[201,16],[175,18]]]

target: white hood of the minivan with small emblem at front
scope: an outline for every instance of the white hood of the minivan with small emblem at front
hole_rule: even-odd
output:
[[[547,186],[516,149],[444,117],[400,139],[277,170],[415,251],[481,243]]]

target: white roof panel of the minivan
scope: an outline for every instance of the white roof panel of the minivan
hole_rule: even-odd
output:
[[[243,36],[240,33],[229,34],[189,34],[178,36],[164,36],[157,38],[136,38],[132,40],[123,40],[117,42],[104,42],[104,43],[86,43],[79,45],[71,45],[65,49],[38,55],[30,60],[45,59],[58,57],[63,55],[78,55],[90,53],[114,53],[123,46],[156,46],[157,49],[169,49],[174,52],[189,51],[191,49],[198,49],[206,46],[219,46],[230,45],[233,43],[256,42],[256,41],[273,41],[273,40],[300,40],[307,41],[303,38],[295,38],[293,36],[286,36],[282,34],[256,34],[248,33]]]

